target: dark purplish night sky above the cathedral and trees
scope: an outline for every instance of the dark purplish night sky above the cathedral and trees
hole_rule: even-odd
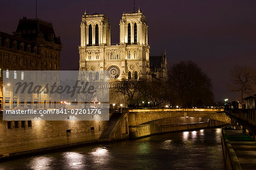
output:
[[[181,60],[199,64],[212,79],[216,101],[239,99],[228,90],[230,68],[256,65],[255,0],[136,1],[148,22],[150,55],[167,50],[168,65]],[[80,22],[89,14],[105,14],[111,42],[119,43],[119,19],[133,11],[130,1],[38,0],[38,18],[53,23],[63,44],[61,70],[79,68]],[[1,1],[0,31],[12,34],[19,18],[35,18],[35,0]]]

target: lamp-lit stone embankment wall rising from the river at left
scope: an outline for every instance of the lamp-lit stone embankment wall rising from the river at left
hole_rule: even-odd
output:
[[[31,121],[31,127],[29,123],[0,119],[0,158],[42,148],[92,143],[98,140],[108,121]]]

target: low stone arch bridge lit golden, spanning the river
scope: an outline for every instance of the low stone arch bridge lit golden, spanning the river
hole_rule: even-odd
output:
[[[225,123],[231,122],[231,119],[224,113],[224,109],[129,109],[123,112],[127,114],[130,126],[175,117],[198,117]]]

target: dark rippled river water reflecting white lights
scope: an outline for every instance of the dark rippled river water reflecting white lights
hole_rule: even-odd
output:
[[[221,129],[174,132],[14,159],[0,169],[225,169]]]

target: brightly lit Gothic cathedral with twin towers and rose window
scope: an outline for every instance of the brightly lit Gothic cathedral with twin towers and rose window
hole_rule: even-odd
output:
[[[81,22],[80,70],[107,71],[110,81],[167,77],[166,52],[150,56],[147,21],[141,9],[123,13],[120,43],[111,44],[109,19],[104,14],[84,13]]]

